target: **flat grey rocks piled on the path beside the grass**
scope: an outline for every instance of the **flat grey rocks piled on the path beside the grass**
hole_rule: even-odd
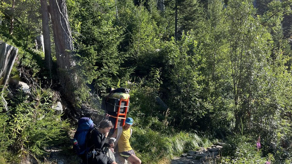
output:
[[[181,157],[187,159],[199,160],[203,164],[215,164],[217,155],[219,155],[220,150],[223,148],[225,143],[218,142],[209,148],[201,147],[198,151],[189,150],[186,154],[182,154]]]

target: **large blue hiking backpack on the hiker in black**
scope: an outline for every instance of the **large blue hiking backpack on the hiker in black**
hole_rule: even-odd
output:
[[[94,124],[91,118],[82,117],[79,119],[78,128],[73,138],[73,150],[75,150],[78,155],[82,155],[89,151],[86,136],[92,129],[94,129]]]

